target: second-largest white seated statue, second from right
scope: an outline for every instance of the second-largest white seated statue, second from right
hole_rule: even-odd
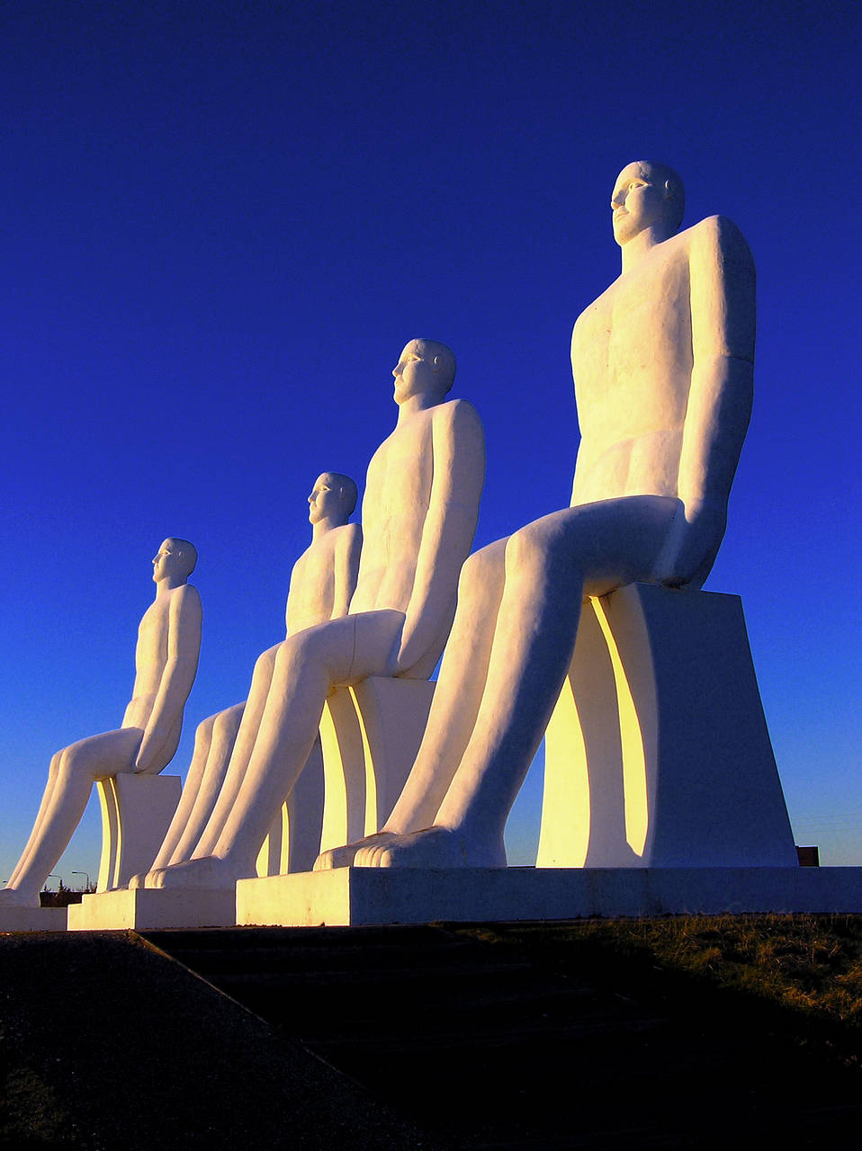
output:
[[[455,613],[485,471],[482,425],[445,402],[455,358],[413,340],[393,371],[398,421],[369,464],[360,576],[347,616],[288,637],[271,681],[249,695],[221,793],[184,863],[158,887],[233,887],[255,875],[260,843],[290,793],[337,686],[369,676],[426,679]],[[254,725],[250,716],[259,716]]]

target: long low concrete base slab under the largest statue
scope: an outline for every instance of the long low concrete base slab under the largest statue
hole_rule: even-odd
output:
[[[723,912],[862,912],[862,868],[340,868],[236,885],[236,922],[257,927]]]

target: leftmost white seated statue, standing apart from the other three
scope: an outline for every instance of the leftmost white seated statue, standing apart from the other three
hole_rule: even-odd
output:
[[[38,907],[39,891],[71,839],[97,779],[158,775],[174,756],[201,651],[201,597],[187,582],[197,562],[188,540],[167,539],[153,559],[156,600],[135,649],[135,686],[122,725],[58,752],[33,830],[2,907]]]

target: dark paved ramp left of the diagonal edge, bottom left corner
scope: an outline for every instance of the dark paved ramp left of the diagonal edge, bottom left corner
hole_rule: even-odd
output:
[[[439,1144],[133,932],[0,936],[0,1145]]]

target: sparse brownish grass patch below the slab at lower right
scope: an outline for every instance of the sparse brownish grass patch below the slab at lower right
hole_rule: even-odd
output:
[[[453,925],[454,930],[458,930]],[[683,1012],[755,1022],[777,1037],[862,1062],[862,916],[719,915],[461,929],[517,946],[558,973]]]

